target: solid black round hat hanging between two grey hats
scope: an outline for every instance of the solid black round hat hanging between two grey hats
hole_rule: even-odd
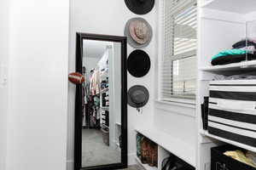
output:
[[[148,54],[141,49],[131,52],[127,59],[127,69],[133,77],[143,77],[150,70],[151,62]]]

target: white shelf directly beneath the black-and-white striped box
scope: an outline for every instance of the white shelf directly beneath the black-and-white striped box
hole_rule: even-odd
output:
[[[250,145],[247,145],[247,144],[241,144],[241,143],[238,143],[238,142],[230,140],[230,139],[224,139],[224,138],[215,136],[213,134],[208,133],[206,130],[201,130],[200,133],[203,136],[207,136],[207,137],[212,138],[212,139],[217,139],[217,140],[222,141],[222,142],[227,143],[227,144],[233,144],[233,145],[236,145],[236,146],[238,146],[240,148],[243,148],[245,150],[251,150],[253,152],[256,152],[256,148],[254,148],[253,146],[250,146]]]

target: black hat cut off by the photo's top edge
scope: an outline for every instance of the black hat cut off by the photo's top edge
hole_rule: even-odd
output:
[[[135,14],[147,14],[154,8],[154,0],[125,0],[125,4]]]

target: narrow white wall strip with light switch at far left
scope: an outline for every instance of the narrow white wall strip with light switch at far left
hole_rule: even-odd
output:
[[[6,167],[8,86],[3,82],[7,76],[9,59],[9,0],[0,1],[0,169]]]

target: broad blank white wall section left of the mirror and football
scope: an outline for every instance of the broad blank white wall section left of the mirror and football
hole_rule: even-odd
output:
[[[68,0],[11,0],[7,170],[64,170]]]

